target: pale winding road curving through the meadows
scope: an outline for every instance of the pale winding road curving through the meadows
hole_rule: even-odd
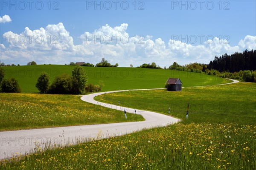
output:
[[[233,80],[231,83],[239,82]],[[231,84],[227,83],[227,84]],[[224,85],[224,84],[221,84]],[[200,86],[202,87],[202,86]],[[159,88],[157,88],[159,89]],[[138,90],[154,90],[154,89],[138,89]],[[122,90],[129,91],[129,90]],[[137,90],[131,90],[137,91]],[[107,103],[97,102],[95,96],[105,93],[115,93],[121,91],[109,91],[88,94],[81,97],[85,102],[102,105],[104,107],[116,109],[119,111],[126,110],[127,113],[135,113],[134,108],[124,108],[122,106],[111,105]],[[47,146],[63,146],[76,144],[92,139],[102,139],[111,136],[121,136],[142,130],[144,128],[161,127],[177,123],[180,119],[171,116],[155,113],[151,111],[136,111],[144,117],[142,122],[122,122],[100,125],[81,125],[69,127],[52,127],[31,130],[15,130],[0,132],[0,159],[9,159],[14,156],[20,156],[31,153],[34,150],[44,150]],[[122,115],[124,116],[124,115]]]

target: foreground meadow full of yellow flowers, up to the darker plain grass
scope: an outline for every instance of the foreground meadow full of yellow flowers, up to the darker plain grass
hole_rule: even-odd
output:
[[[0,169],[255,170],[256,126],[170,125],[2,161]]]

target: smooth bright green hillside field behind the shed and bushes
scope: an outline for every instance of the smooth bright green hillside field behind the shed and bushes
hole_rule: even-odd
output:
[[[74,66],[71,65],[25,65],[2,67],[5,78],[18,80],[22,92],[38,93],[35,83],[41,72],[47,72],[51,82],[57,75],[71,74]],[[149,69],[149,68],[105,68],[83,67],[88,75],[88,83],[99,84],[103,81],[102,91],[163,88],[168,78],[180,78],[183,87],[198,85],[216,85],[231,82],[220,77],[209,76],[185,71]]]

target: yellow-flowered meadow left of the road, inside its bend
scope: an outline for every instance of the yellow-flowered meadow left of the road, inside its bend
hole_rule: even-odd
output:
[[[143,121],[140,115],[103,108],[74,95],[0,94],[0,131]]]

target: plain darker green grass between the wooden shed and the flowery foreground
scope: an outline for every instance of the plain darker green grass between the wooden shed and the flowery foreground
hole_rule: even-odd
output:
[[[156,111],[186,119],[189,102],[191,122],[256,124],[256,84],[239,82],[199,88],[183,88],[182,91],[149,90],[125,91],[96,96],[96,100],[117,104],[140,111]],[[146,103],[146,104],[145,104]],[[240,119],[238,119],[240,118]]]

